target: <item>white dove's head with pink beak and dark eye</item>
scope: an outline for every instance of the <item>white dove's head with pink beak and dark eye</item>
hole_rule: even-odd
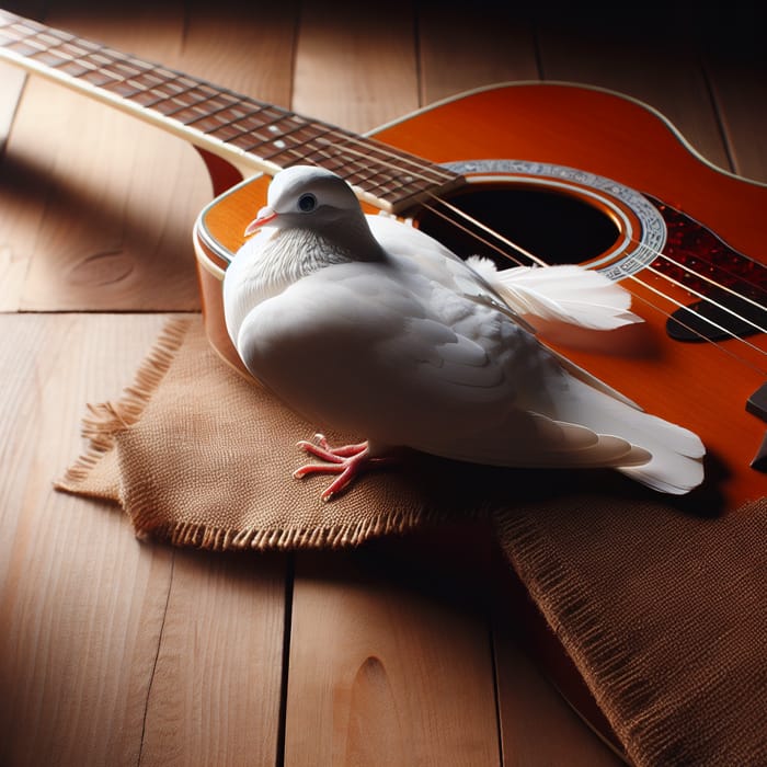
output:
[[[245,237],[264,226],[309,230],[356,257],[376,257],[370,251],[377,253],[377,243],[352,187],[323,168],[294,165],[277,173]]]

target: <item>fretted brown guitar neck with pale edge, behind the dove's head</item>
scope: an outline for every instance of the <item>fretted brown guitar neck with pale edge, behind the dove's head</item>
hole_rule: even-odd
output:
[[[360,199],[391,213],[462,181],[374,139],[2,9],[0,59],[176,134],[245,172],[322,165],[345,178]]]

